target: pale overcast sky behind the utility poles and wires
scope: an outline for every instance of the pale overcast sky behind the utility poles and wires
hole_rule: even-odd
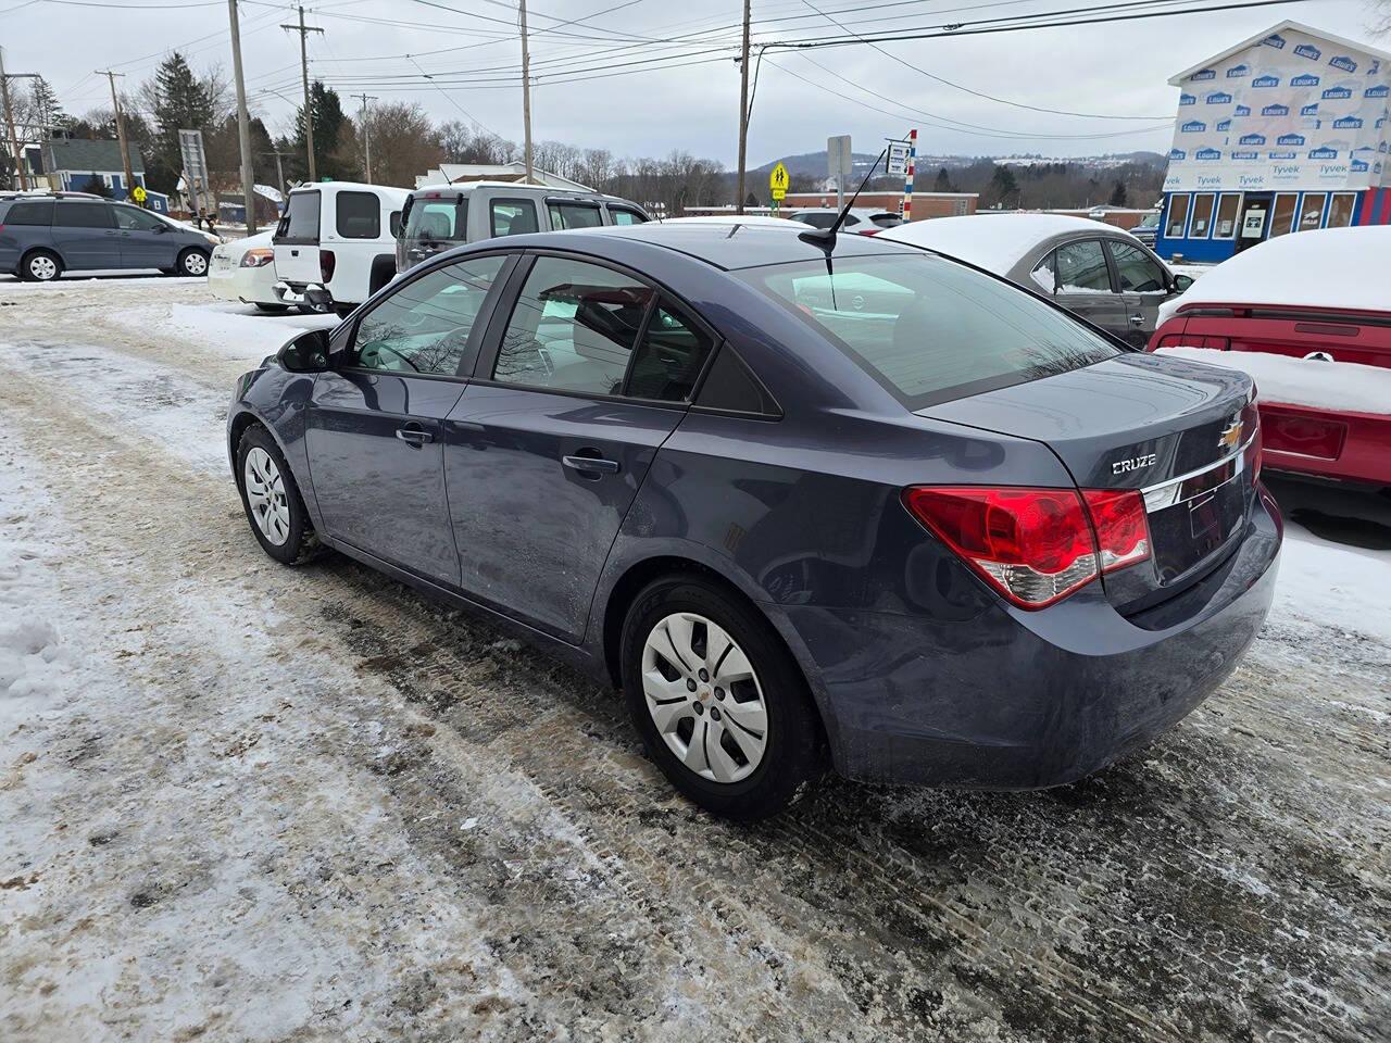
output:
[[[1187,0],[1182,6],[1224,1]],[[1104,3],[1114,0],[1095,6]],[[869,35],[1077,7],[1082,4],[1064,0],[754,0],[754,40],[850,36],[828,17]],[[241,3],[250,106],[271,132],[289,127],[302,97],[298,38],[278,28],[294,17],[284,3]],[[740,0],[534,0],[529,4],[534,136],[608,147],[620,156],[686,149],[733,167],[739,68],[732,58],[740,17]],[[1370,32],[1376,13],[1369,0],[1303,0],[879,45],[887,54],[858,43],[800,53],[773,49],[758,76],[750,165],[815,152],[829,134],[853,135],[860,152],[878,150],[885,136],[903,135],[914,125],[919,152],[926,154],[1164,152],[1178,97],[1166,81],[1285,18],[1391,50],[1391,40],[1377,40]],[[520,140],[513,3],[323,0],[306,4],[306,19],[325,29],[309,38],[310,75],[334,83],[349,110],[359,102],[348,95],[366,90],[383,100],[419,102],[437,120],[473,117]],[[569,19],[577,21],[562,24]],[[220,64],[231,76],[227,22],[223,0],[0,0],[6,68],[42,72],[74,114],[110,104],[106,78],[92,70],[124,71],[122,83],[134,88],[172,49],[195,68]],[[442,85],[410,82],[412,76],[419,81],[421,68]],[[640,71],[630,72],[634,68]],[[611,75],[619,72],[627,75]],[[1002,100],[978,97],[926,74]],[[449,79],[469,82],[451,85]],[[1010,102],[1089,115],[1034,111]]]

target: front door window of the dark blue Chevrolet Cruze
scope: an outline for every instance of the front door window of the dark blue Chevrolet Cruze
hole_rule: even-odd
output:
[[[502,268],[502,254],[473,257],[406,282],[362,317],[353,362],[369,370],[455,375],[469,334]]]

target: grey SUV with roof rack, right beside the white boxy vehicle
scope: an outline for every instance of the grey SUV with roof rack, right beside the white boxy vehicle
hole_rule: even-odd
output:
[[[594,192],[570,192],[512,181],[427,185],[410,193],[396,239],[396,271],[466,242],[499,235],[644,224],[637,203]]]

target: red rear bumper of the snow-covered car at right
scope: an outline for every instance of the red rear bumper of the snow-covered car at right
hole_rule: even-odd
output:
[[[1391,485],[1391,414],[1262,402],[1260,427],[1271,470]]]

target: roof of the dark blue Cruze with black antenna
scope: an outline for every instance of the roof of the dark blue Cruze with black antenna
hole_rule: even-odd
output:
[[[782,224],[746,224],[733,217],[723,224],[704,221],[648,221],[645,224],[602,225],[598,228],[576,228],[565,232],[517,236],[526,241],[517,245],[544,245],[563,249],[568,236],[604,235],[684,253],[725,271],[798,260],[825,260],[826,253],[821,246],[800,238],[811,229],[796,221],[787,221],[785,223],[786,227],[779,227]],[[897,243],[881,243],[878,236],[847,234],[836,236],[832,257],[864,257],[900,252],[911,252],[911,248]]]

